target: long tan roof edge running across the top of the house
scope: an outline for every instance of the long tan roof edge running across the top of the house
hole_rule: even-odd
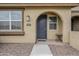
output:
[[[4,6],[78,6],[78,3],[0,3],[0,7]]]

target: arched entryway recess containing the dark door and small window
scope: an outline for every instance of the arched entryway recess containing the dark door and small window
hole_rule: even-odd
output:
[[[58,14],[45,12],[38,16],[36,22],[36,39],[56,40],[57,35],[62,35],[62,21]],[[62,40],[62,39],[61,39]]]

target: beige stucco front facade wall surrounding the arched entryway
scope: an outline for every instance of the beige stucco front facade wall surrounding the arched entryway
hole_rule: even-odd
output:
[[[63,42],[69,42],[70,36],[70,18],[71,10],[70,8],[34,8],[27,7],[24,10],[24,36],[0,36],[0,43],[35,43],[36,41],[36,20],[37,17],[44,12],[55,12],[59,14],[63,22],[62,32],[63,32]],[[27,26],[27,15],[30,16],[31,26]],[[60,26],[61,27],[61,26]],[[47,39],[53,40],[55,32],[48,30]]]

